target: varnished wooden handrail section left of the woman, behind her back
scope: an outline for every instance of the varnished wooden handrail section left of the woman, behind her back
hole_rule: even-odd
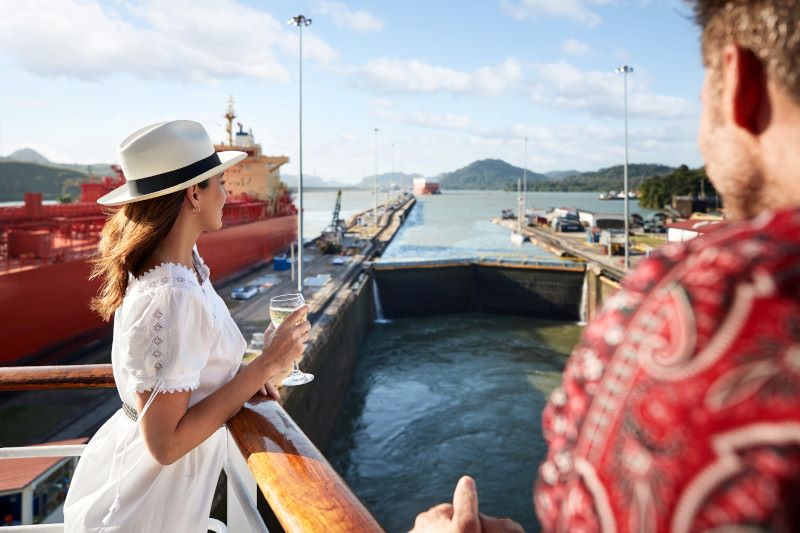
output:
[[[114,387],[111,365],[0,367],[0,391]]]

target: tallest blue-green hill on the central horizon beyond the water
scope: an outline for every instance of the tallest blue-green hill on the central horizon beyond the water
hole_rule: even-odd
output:
[[[483,159],[469,165],[439,174],[442,188],[472,190],[516,190],[517,180],[522,179],[523,169],[501,159]],[[528,170],[528,187],[531,183],[547,179],[544,174]]]

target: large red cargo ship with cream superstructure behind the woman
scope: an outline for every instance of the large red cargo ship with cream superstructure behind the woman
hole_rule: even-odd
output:
[[[225,172],[222,229],[197,243],[214,282],[271,260],[297,238],[297,210],[279,175],[289,159],[262,155],[241,124],[234,142],[232,102],[225,117],[228,143],[215,148],[248,157]],[[110,334],[89,309],[99,283],[88,277],[106,220],[96,200],[124,182],[113,168],[116,176],[82,183],[75,203],[45,205],[40,193],[26,193],[24,205],[0,207],[0,366],[57,363]]]

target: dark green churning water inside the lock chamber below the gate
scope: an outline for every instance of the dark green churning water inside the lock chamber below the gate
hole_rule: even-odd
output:
[[[326,455],[390,533],[451,501],[462,474],[481,511],[536,530],[540,414],[580,329],[486,314],[376,324]]]

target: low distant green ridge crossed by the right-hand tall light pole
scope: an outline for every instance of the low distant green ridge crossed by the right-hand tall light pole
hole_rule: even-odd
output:
[[[641,182],[653,176],[663,176],[675,170],[674,167],[653,163],[634,163],[628,165],[628,188],[636,189]],[[528,185],[533,191],[621,191],[623,188],[623,166],[601,168],[593,172],[581,172],[561,179],[547,179]]]

